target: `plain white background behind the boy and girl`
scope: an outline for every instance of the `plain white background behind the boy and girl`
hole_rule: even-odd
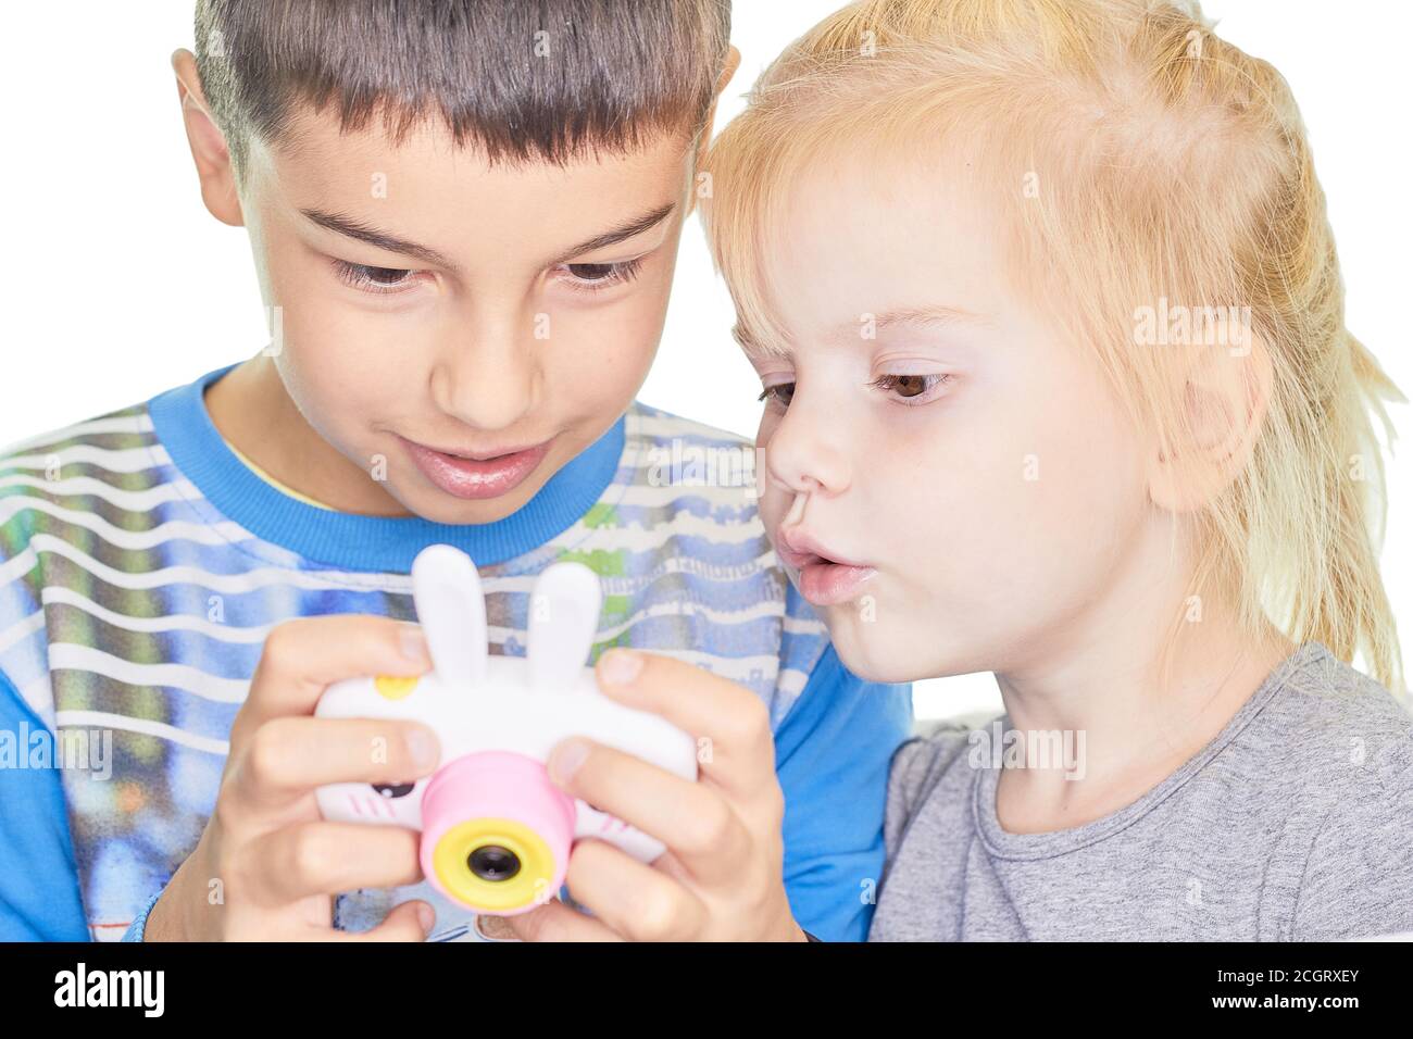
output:
[[[743,61],[719,124],[790,40],[839,6],[736,0]],[[192,45],[192,8],[191,0],[90,0],[6,10],[0,444],[147,400],[268,339],[244,233],[202,208],[181,129],[168,55]],[[1219,18],[1219,35],[1290,81],[1330,201],[1348,325],[1409,392],[1407,4],[1208,0],[1204,8]],[[692,221],[643,400],[752,435],[759,383],[731,345],[731,325],[729,298]],[[1396,407],[1393,420],[1406,430],[1409,409]],[[1407,451],[1389,485],[1383,574],[1406,636]],[[989,676],[917,686],[923,717],[999,704]]]

